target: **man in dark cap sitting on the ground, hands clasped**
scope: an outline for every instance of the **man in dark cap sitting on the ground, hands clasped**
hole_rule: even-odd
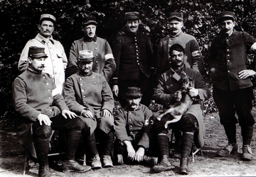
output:
[[[144,133],[144,127],[149,125],[149,118],[153,113],[140,103],[142,93],[138,87],[128,87],[126,100],[127,105],[119,108],[114,118],[117,137],[114,152],[117,154],[117,162],[124,164],[125,158],[125,161],[142,161],[154,166],[158,158],[146,156],[149,154],[147,150],[151,137]]]

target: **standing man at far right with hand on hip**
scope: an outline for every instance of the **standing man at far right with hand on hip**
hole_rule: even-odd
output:
[[[220,13],[220,35],[213,39],[210,48],[208,66],[213,79],[213,98],[220,114],[220,123],[228,137],[228,145],[217,152],[219,156],[228,156],[238,152],[236,124],[239,122],[242,132],[242,159],[252,160],[253,125],[252,82],[255,68],[247,69],[247,52],[256,50],[256,39],[235,27],[235,13]],[[235,117],[238,115],[238,119]]]

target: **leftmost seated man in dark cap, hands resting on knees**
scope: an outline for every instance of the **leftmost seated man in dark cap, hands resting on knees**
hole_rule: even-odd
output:
[[[65,105],[53,79],[42,73],[47,57],[44,50],[42,47],[29,47],[28,69],[14,80],[14,108],[20,115],[17,120],[18,139],[32,156],[37,157],[39,176],[48,177],[52,175],[48,167],[51,132],[65,130],[67,144],[63,172],[88,171],[90,166],[81,166],[75,161],[82,120]]]

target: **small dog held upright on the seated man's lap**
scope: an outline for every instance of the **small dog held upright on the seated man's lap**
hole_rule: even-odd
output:
[[[190,88],[194,87],[193,79],[188,77],[186,73],[183,73],[181,74],[181,79],[179,79],[179,81],[181,82],[182,86],[181,90],[176,91],[176,93],[178,94],[178,97],[181,97],[181,100],[176,102],[174,105],[171,105],[169,109],[157,117],[158,120],[161,120],[164,115],[168,114],[170,115],[170,118],[173,118],[166,121],[166,124],[164,125],[165,128],[168,127],[169,123],[178,122],[183,113],[186,113],[193,103],[193,98],[191,98],[191,96],[188,94]]]

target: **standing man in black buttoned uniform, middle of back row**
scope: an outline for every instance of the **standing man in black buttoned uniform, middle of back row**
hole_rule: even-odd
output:
[[[139,33],[139,13],[125,13],[126,26],[119,33],[113,46],[117,70],[112,76],[112,91],[119,102],[126,103],[127,87],[137,86],[142,90],[142,103],[149,105],[154,89],[153,69],[155,58],[149,37]]]

